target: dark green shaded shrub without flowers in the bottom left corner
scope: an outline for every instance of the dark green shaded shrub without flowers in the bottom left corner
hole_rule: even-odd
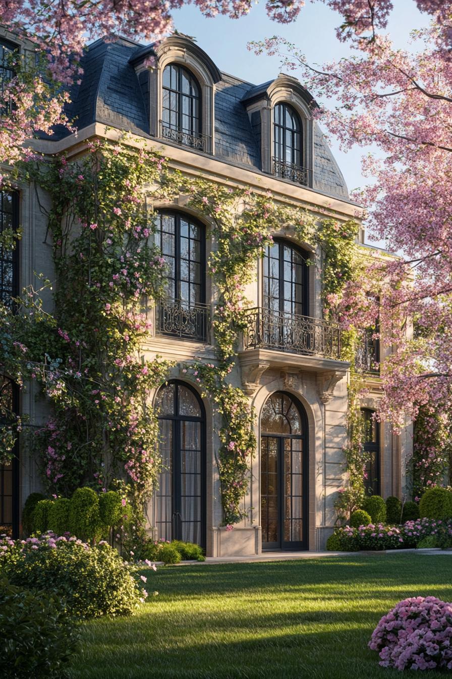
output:
[[[60,679],[79,634],[54,592],[28,591],[0,581],[0,675]]]

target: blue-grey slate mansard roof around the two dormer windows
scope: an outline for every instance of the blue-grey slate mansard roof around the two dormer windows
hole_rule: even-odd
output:
[[[121,128],[150,138],[148,76],[137,66],[171,43],[190,50],[203,62],[215,83],[215,158],[254,170],[262,170],[259,134],[247,113],[247,105],[259,98],[270,98],[273,88],[286,86],[304,98],[310,107],[314,99],[293,77],[279,75],[261,85],[254,85],[218,70],[211,58],[192,40],[173,35],[157,48],[143,46],[123,37],[114,41],[99,39],[89,45],[83,59],[81,84],[71,93],[68,117],[79,130],[92,123]],[[57,128],[52,139],[68,134]],[[314,189],[337,198],[348,199],[342,172],[314,123]]]

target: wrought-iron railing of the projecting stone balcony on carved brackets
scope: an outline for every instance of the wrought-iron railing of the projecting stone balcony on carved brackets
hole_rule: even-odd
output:
[[[320,318],[255,308],[247,312],[245,349],[268,348],[340,361],[341,331]]]

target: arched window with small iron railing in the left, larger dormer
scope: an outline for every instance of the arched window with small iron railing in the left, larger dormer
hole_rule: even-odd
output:
[[[201,135],[201,91],[183,66],[163,70],[162,135],[177,143],[205,150]]]

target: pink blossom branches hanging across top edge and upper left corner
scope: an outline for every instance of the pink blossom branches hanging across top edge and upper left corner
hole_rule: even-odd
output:
[[[186,0],[188,4],[192,0]],[[415,0],[420,10],[434,14],[447,41],[451,3]],[[323,0],[344,16],[341,39],[384,28],[389,0]],[[251,9],[251,0],[193,0],[207,17],[218,14],[239,18]],[[14,164],[30,151],[24,143],[37,130],[47,134],[57,124],[70,125],[63,113],[69,88],[79,79],[79,61],[85,45],[97,37],[121,34],[133,39],[159,41],[173,30],[171,12],[184,0],[0,0],[0,24],[31,52],[12,52],[0,73],[0,163]],[[267,0],[268,16],[280,23],[293,21],[304,0]]]

